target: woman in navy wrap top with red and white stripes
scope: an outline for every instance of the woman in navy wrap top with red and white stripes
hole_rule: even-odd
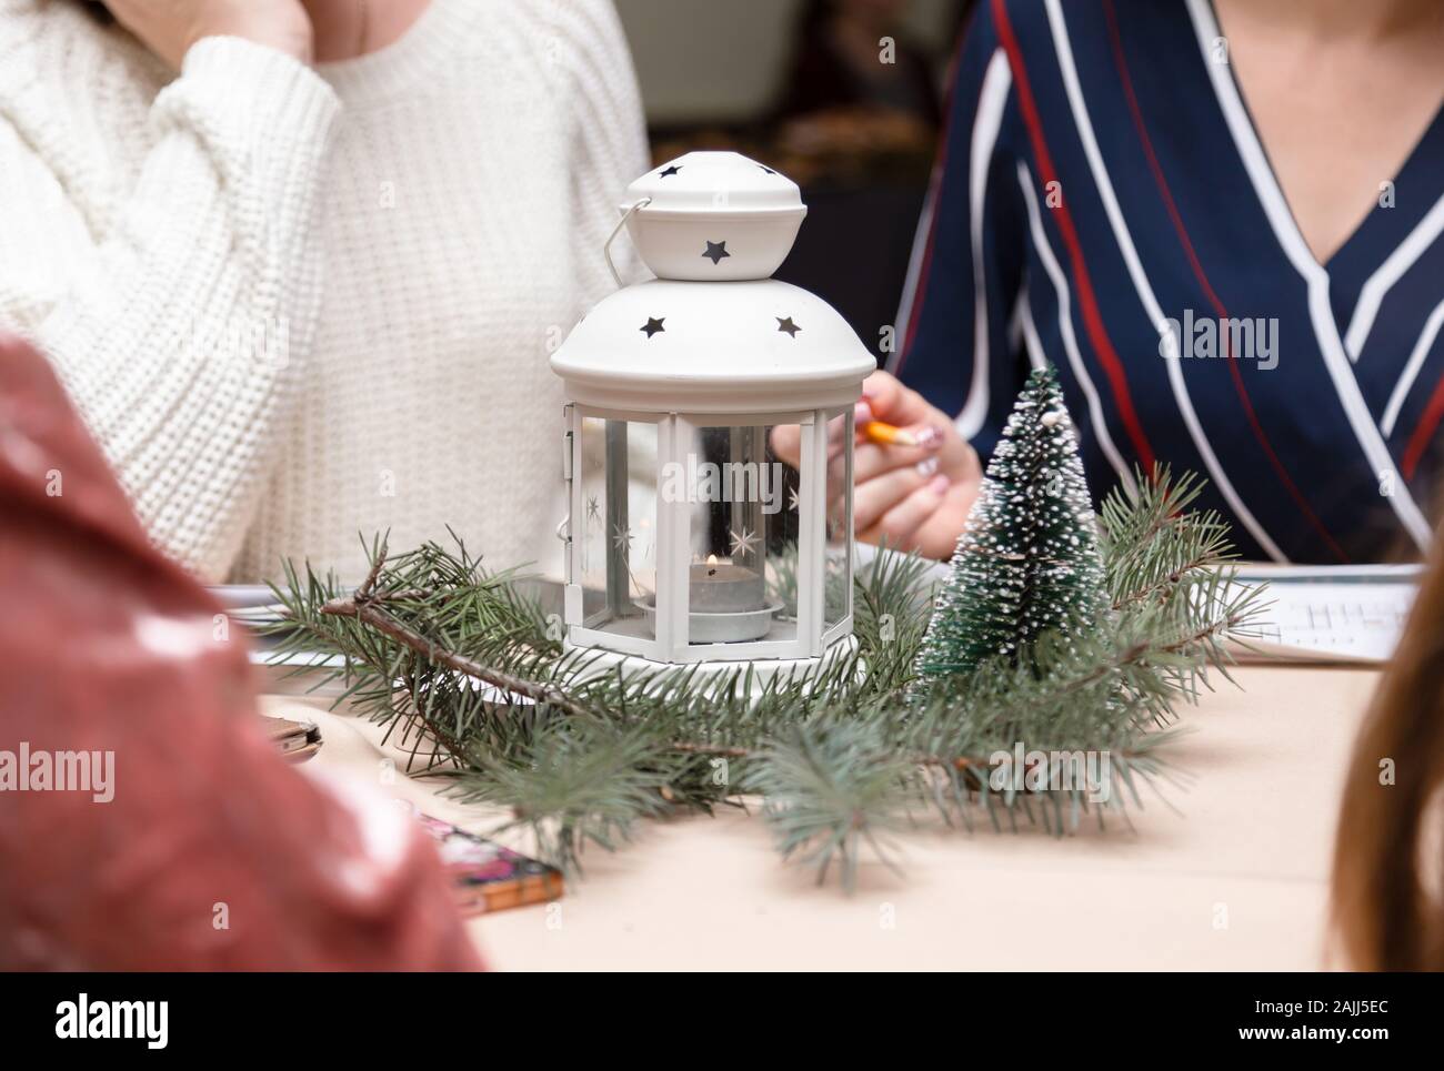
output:
[[[1249,559],[1430,544],[1444,460],[1444,4],[983,0],[856,523],[946,557],[1030,365],[1095,498],[1188,469]]]

